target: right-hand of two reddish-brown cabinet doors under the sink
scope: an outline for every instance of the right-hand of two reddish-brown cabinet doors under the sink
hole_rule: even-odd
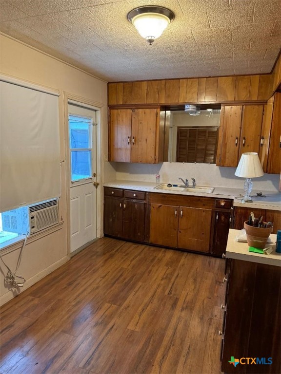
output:
[[[212,210],[180,206],[178,247],[209,252]]]

